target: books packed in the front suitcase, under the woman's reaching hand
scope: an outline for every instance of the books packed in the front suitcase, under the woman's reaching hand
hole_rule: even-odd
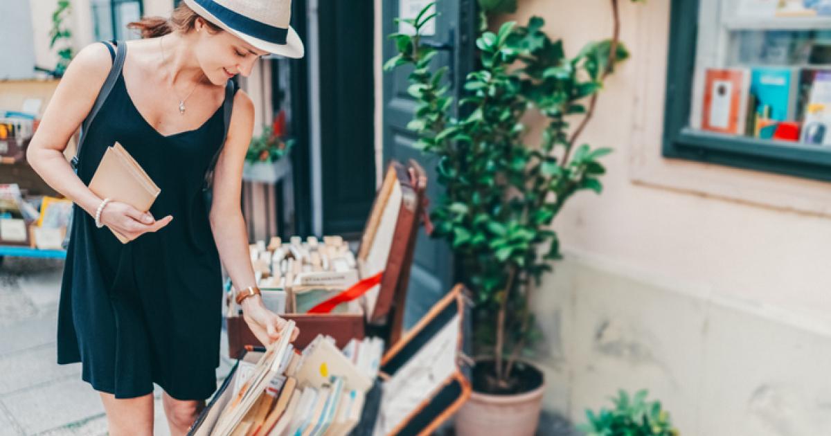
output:
[[[258,361],[238,362],[229,386],[233,395],[221,410],[212,410],[219,418],[209,434],[340,436],[355,428],[378,375],[383,343],[354,340],[338,350],[331,337],[321,335],[297,352],[288,343],[293,326],[288,321],[281,339]]]

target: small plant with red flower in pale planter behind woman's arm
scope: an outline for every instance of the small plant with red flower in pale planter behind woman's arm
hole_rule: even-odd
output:
[[[294,140],[286,139],[286,113],[280,110],[272,125],[263,127],[263,133],[251,138],[245,154],[243,179],[250,182],[273,184],[288,174],[287,158]]]

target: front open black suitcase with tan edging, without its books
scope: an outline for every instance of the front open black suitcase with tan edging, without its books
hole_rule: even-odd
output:
[[[470,297],[456,285],[381,360],[381,370],[352,436],[431,434],[470,397]],[[256,362],[250,351],[243,360]],[[234,398],[238,365],[189,430],[209,436],[222,409]]]

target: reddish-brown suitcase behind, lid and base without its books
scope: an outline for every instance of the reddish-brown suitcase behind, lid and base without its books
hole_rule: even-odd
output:
[[[416,161],[411,160],[406,166],[391,161],[372,204],[356,256],[362,266],[360,278],[382,272],[380,287],[366,294],[369,298],[365,301],[374,301],[369,308],[371,313],[281,314],[297,323],[300,335],[294,344],[298,348],[305,347],[320,333],[334,337],[342,347],[352,338],[363,338],[368,324],[387,346],[399,339],[426,184],[425,171]],[[262,346],[243,320],[241,311],[229,311],[226,322],[232,358],[240,358],[246,348]]]

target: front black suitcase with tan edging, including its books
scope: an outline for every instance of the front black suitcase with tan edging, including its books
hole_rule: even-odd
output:
[[[430,434],[470,396],[470,303],[457,285],[381,357],[378,338],[340,349],[317,336],[247,353],[189,431],[193,436]]]

